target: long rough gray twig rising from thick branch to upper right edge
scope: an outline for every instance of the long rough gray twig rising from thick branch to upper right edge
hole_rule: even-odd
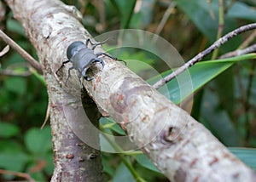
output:
[[[244,31],[250,31],[253,29],[256,29],[256,23],[248,24],[247,26],[241,26],[241,27],[237,28],[235,31],[230,31],[230,33],[228,33],[224,37],[221,37],[220,39],[218,39],[218,41],[213,43],[209,48],[205,49],[201,53],[197,54],[193,59],[189,60],[187,63],[185,63],[184,65],[177,68],[176,71],[173,71],[170,75],[164,77],[163,79],[160,79],[160,81],[155,82],[153,87],[160,88],[161,86],[166,84],[166,82],[169,82],[170,80],[172,80],[173,77],[176,77],[178,74],[180,74],[181,72],[188,69],[191,65],[195,65],[195,63],[202,60],[207,54],[212,53],[212,51],[215,48],[219,48],[221,45],[228,42],[230,40],[230,38],[236,37],[237,35],[241,34]]]

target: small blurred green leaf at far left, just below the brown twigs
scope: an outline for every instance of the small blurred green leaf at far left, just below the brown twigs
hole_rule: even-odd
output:
[[[26,79],[24,77],[9,77],[4,82],[4,87],[15,94],[26,93]]]

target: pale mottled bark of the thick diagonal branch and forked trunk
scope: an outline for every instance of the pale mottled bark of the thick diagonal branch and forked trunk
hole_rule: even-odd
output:
[[[55,145],[54,179],[73,181],[63,179],[67,173],[70,174],[68,169],[79,169],[79,172],[72,169],[73,173],[87,172],[75,167],[79,165],[77,156],[67,157],[75,147],[71,141],[77,142],[77,139],[67,127],[61,110],[62,78],[58,78],[55,71],[66,59],[67,46],[76,40],[84,41],[90,35],[75,19],[75,11],[72,12],[71,7],[57,0],[7,2],[38,50],[44,67]],[[108,58],[104,58],[104,61],[105,68],[96,72],[95,79],[83,82],[85,88],[102,114],[119,122],[131,136],[132,142],[148,155],[166,177],[172,181],[255,181],[255,173],[232,155],[201,123],[125,65]],[[62,73],[67,78],[67,67],[65,69]],[[70,88],[79,88],[73,84],[75,79],[78,78],[71,76],[68,79]],[[73,166],[69,168],[70,163]],[[83,178],[83,174],[80,177]],[[79,180],[85,179],[76,179]]]

